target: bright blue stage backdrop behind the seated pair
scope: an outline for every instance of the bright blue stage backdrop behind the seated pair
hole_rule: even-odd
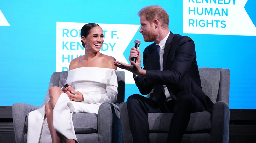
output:
[[[241,2],[244,2],[245,6],[240,4]],[[57,22],[140,25],[137,12],[148,5],[162,6],[170,16],[169,29],[174,34],[186,35],[194,40],[199,67],[230,69],[231,109],[256,109],[256,32],[254,33],[256,2],[254,0],[130,0],[129,2],[2,0],[0,1],[0,106],[12,106],[17,102],[33,105],[43,103],[50,77],[56,71]],[[239,8],[236,8],[236,13],[233,12],[233,6],[239,5],[242,8],[241,12]],[[212,13],[207,13],[211,8]],[[186,11],[188,9],[190,14]],[[222,10],[228,14],[222,13]],[[246,15],[239,16],[239,14]],[[247,22],[240,17],[251,21]],[[212,24],[203,26],[206,19],[212,18],[214,19]],[[196,19],[201,19],[198,27],[186,23],[187,20],[191,22]],[[225,27],[221,21],[224,21]],[[247,23],[251,25],[245,25]],[[232,26],[235,28],[232,29]],[[139,28],[135,29],[134,35],[129,35],[131,37],[129,44],[122,47],[124,48],[122,54],[126,60],[135,39],[142,41],[141,51],[150,44],[143,41]],[[115,54],[111,56],[115,57]],[[125,86],[125,99],[129,95],[139,93],[135,84],[127,83]]]

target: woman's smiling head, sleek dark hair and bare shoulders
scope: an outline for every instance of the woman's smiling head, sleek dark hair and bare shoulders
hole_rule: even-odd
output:
[[[85,24],[81,29],[81,42],[85,48],[85,54],[77,57],[70,62],[69,70],[78,67],[104,67],[116,69],[112,56],[100,53],[104,42],[104,34],[102,28],[95,23]],[[109,60],[105,60],[105,59]],[[111,65],[111,67],[109,67]]]

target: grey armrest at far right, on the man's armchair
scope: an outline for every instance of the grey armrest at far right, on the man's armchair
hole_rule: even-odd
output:
[[[210,136],[211,143],[228,143],[229,107],[222,101],[213,105]]]

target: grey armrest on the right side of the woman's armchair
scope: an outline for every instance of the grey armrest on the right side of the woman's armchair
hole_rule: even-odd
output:
[[[121,142],[120,110],[117,105],[110,102],[100,105],[98,112],[98,135],[99,142]]]

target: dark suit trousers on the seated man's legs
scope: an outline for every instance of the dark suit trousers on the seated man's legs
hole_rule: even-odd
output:
[[[206,111],[202,103],[193,94],[181,91],[176,100],[165,102],[173,113],[166,142],[180,143],[190,120],[190,113]],[[165,113],[160,102],[139,94],[127,99],[129,124],[134,143],[150,143],[148,113]]]

